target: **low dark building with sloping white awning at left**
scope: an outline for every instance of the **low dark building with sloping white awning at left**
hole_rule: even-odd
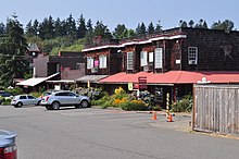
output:
[[[30,90],[68,89],[75,80],[85,75],[81,52],[60,51],[59,56],[38,54],[33,59],[34,77],[18,83]]]

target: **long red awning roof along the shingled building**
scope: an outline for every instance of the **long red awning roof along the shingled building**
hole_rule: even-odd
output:
[[[196,84],[203,77],[211,83],[239,83],[239,72],[189,72],[169,71],[166,73],[138,72],[136,74],[117,73],[105,77],[100,83],[121,84],[138,83],[139,76],[147,76],[148,84]]]

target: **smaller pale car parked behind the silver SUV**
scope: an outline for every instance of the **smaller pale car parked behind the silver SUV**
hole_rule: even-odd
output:
[[[40,100],[41,98],[36,98],[32,95],[17,95],[13,97],[11,105],[14,106],[15,108],[21,108],[27,105],[38,106],[40,105]]]

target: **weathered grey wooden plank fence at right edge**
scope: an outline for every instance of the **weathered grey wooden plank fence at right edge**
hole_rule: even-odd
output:
[[[194,85],[192,129],[239,134],[239,85]]]

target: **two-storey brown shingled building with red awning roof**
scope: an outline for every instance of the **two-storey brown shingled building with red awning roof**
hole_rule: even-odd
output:
[[[176,100],[192,93],[192,85],[210,75],[224,80],[226,76],[221,83],[239,83],[239,32],[236,30],[173,28],[86,48],[83,52],[87,74],[109,75],[99,81],[109,91],[118,85],[127,89],[128,83],[138,84],[139,77],[146,77],[147,89],[162,99],[159,102],[163,106],[166,93]],[[180,76],[186,81],[179,81]],[[120,77],[125,81],[118,81]],[[211,83],[218,81],[212,78]],[[159,93],[162,97],[158,97]]]

